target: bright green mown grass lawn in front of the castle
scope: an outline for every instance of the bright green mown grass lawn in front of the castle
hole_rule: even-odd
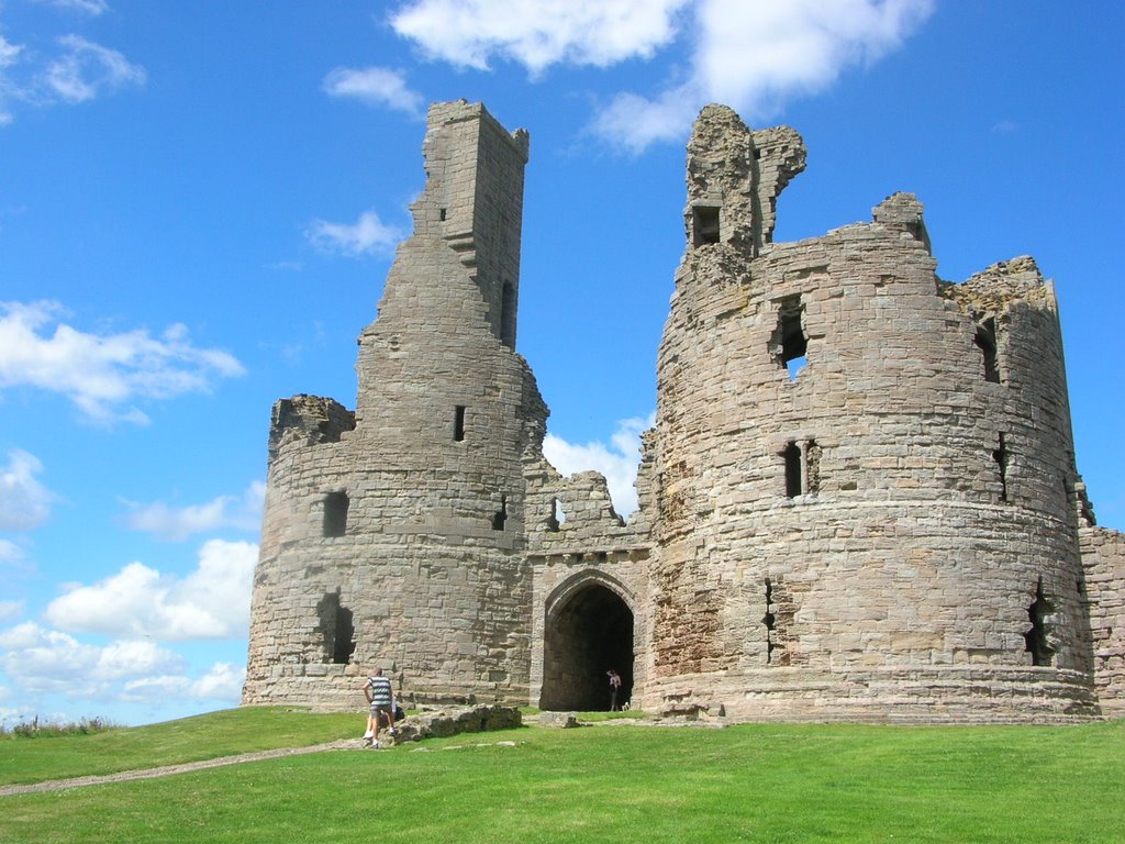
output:
[[[325,740],[335,729],[333,717],[238,710],[120,730],[118,747],[134,761],[168,764],[209,744],[214,728],[243,752],[255,737],[232,725],[263,717],[277,721],[278,736],[302,733],[280,724],[308,719],[306,740],[291,744]],[[343,735],[353,735],[354,717],[341,718]],[[164,730],[179,735],[162,740]],[[81,756],[80,746],[98,738],[50,740]],[[0,743],[4,765],[8,744],[20,742],[22,760],[46,744]],[[150,749],[134,749],[144,743]],[[104,761],[100,752],[86,758]],[[54,778],[57,765],[39,767]],[[1125,842],[1125,721],[524,728],[0,798],[6,844],[372,839],[1113,844]]]

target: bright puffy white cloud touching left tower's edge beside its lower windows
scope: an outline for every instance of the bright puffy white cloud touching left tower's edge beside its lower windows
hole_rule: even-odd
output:
[[[44,613],[69,632],[98,632],[162,641],[244,636],[258,546],[212,539],[184,578],[141,563],[93,585],[78,585]]]

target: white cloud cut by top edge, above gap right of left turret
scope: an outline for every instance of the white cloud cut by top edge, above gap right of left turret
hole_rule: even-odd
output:
[[[552,64],[606,68],[650,57],[675,36],[688,0],[415,0],[390,17],[403,37],[460,68],[486,70],[492,56],[532,73]]]

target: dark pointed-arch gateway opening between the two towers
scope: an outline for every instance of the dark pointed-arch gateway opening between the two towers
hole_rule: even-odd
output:
[[[633,686],[633,613],[614,590],[588,580],[548,608],[543,684],[539,708],[597,711],[610,708],[606,672],[621,675],[618,703]]]

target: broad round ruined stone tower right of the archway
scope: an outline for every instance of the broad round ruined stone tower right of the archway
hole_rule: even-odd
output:
[[[936,276],[921,205],[774,244],[791,129],[700,116],[658,359],[646,707],[1089,717],[1058,304]]]

